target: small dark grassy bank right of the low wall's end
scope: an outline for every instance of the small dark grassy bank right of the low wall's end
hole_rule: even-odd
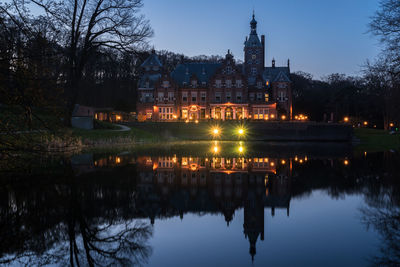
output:
[[[375,129],[355,129],[355,137],[360,140],[357,150],[363,151],[387,151],[400,149],[400,135],[391,135],[388,131]]]

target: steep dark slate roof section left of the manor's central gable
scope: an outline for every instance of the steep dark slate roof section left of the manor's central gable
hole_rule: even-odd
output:
[[[179,85],[183,85],[183,83],[189,84],[192,75],[197,77],[200,83],[208,83],[221,65],[220,63],[179,64],[171,73],[171,77]]]

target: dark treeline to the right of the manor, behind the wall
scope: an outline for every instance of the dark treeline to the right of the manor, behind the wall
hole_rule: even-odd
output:
[[[388,97],[379,75],[367,69],[364,76],[331,74],[315,80],[308,73],[293,73],[294,114],[307,114],[315,121],[338,122],[350,117],[355,125],[368,121],[371,126],[387,128],[400,119],[400,94],[397,88],[388,89],[392,91]]]

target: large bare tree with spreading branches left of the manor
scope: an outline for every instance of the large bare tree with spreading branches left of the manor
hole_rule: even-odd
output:
[[[134,53],[145,48],[153,35],[148,20],[139,13],[142,0],[13,0],[2,9],[27,23],[32,6],[54,23],[61,33],[59,45],[67,49],[68,122],[83,90],[80,82],[90,57],[103,48]]]

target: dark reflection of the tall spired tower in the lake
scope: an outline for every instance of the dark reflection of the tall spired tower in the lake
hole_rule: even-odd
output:
[[[244,201],[243,230],[250,242],[250,255],[254,261],[256,255],[256,243],[258,236],[264,240],[264,205],[261,196],[257,196],[255,188],[249,188],[247,198]]]

